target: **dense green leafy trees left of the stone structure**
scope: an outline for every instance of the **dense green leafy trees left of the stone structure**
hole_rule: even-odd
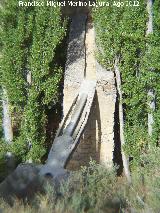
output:
[[[59,7],[19,7],[3,1],[1,19],[1,85],[6,89],[13,143],[1,141],[1,157],[12,150],[23,160],[40,162],[45,154],[46,112],[58,101],[62,77],[56,57],[65,36]]]

